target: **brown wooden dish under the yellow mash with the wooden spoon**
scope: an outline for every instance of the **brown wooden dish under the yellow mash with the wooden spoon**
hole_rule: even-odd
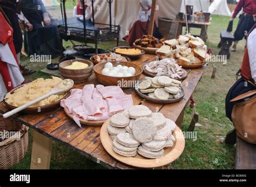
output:
[[[30,82],[28,82],[26,84],[30,84]],[[24,86],[24,85],[19,85],[19,86],[15,87],[14,89],[12,89],[10,91],[10,93],[11,94],[14,93],[14,91],[16,89],[18,89],[18,88],[20,88],[22,86]],[[70,92],[66,93],[66,95],[62,99],[68,98],[69,95],[70,95]],[[5,94],[5,96],[6,96],[6,94]],[[4,106],[9,108],[9,109],[11,109],[11,110],[17,108],[16,106],[12,106],[8,102],[6,102],[5,96],[4,96],[4,99],[3,99]],[[62,99],[60,99],[60,100],[62,100]],[[24,114],[38,114],[38,113],[43,113],[43,112],[49,112],[51,110],[54,110],[54,109],[60,107],[60,105],[59,105],[60,104],[60,100],[55,101],[55,102],[53,102],[53,103],[51,103],[49,105],[41,106],[41,107],[28,107],[28,108],[25,108],[24,110],[22,110],[21,113],[24,113]]]

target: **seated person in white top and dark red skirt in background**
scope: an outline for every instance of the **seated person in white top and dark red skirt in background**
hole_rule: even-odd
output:
[[[136,22],[130,29],[129,35],[125,36],[123,39],[126,40],[131,46],[134,41],[138,38],[142,38],[144,34],[147,34],[149,30],[149,20],[152,10],[151,0],[140,0],[140,9]],[[156,30],[156,24],[154,25],[154,31]]]

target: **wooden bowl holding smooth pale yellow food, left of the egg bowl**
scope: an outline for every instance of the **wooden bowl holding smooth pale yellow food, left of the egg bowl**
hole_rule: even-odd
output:
[[[80,70],[68,70],[65,67],[71,65],[73,62],[79,61],[80,63],[85,63],[89,67]],[[92,74],[93,64],[89,60],[66,60],[59,63],[59,72],[65,79],[72,79],[75,83],[85,82]]]

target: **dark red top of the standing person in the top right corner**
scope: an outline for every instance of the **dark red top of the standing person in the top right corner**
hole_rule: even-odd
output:
[[[243,8],[243,11],[247,13],[250,16],[253,16],[256,14],[256,1],[255,0],[240,0],[235,6],[234,13],[232,18],[235,18],[237,16],[238,12]]]

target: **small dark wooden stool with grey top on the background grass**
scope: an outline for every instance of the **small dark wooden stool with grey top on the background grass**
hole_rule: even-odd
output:
[[[219,55],[226,55],[227,59],[230,59],[230,46],[232,45],[234,36],[231,32],[227,32],[223,30],[220,33],[220,38],[221,40],[218,46],[219,47],[221,46],[221,50],[219,52]]]

